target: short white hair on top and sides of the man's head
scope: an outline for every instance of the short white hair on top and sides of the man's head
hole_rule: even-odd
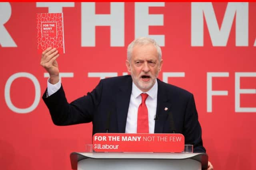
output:
[[[134,41],[132,41],[128,45],[128,47],[127,47],[127,60],[129,62],[131,61],[132,49],[134,48],[134,46],[136,46],[136,45],[146,45],[146,44],[153,44],[154,47],[156,47],[156,51],[158,53],[158,59],[159,59],[159,61],[161,61],[162,51],[161,51],[160,46],[156,43],[156,41],[154,39],[147,38],[147,37],[140,37],[140,38],[134,39]]]

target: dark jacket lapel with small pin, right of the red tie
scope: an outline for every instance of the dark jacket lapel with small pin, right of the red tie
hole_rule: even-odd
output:
[[[164,83],[157,79],[158,92],[157,92],[157,106],[156,115],[157,120],[155,121],[154,133],[163,133],[164,124],[168,120],[168,113],[170,111],[171,102],[166,95]]]

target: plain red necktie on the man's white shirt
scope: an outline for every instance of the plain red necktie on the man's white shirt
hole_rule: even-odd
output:
[[[142,101],[138,108],[138,118],[137,118],[137,133],[148,133],[148,108],[146,106],[146,99],[148,94],[140,94]]]

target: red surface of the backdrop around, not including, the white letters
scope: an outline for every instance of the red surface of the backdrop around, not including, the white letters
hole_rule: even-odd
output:
[[[7,5],[9,5],[7,3]],[[219,27],[228,3],[210,3],[213,6]],[[183,72],[184,77],[168,78],[168,83],[192,92],[196,100],[202,126],[202,138],[210,161],[216,170],[252,170],[256,152],[256,3],[248,6],[248,45],[240,47],[236,41],[236,19],[232,22],[226,45],[213,45],[204,17],[204,44],[192,46],[192,4],[164,3],[164,6],[150,7],[149,14],[162,14],[163,24],[150,26],[150,35],[164,35],[162,47],[164,72]],[[0,3],[5,8],[6,3]],[[37,7],[36,3],[10,3],[11,16],[3,21],[5,13],[0,10],[0,166],[1,169],[26,170],[69,170],[69,154],[84,151],[92,141],[91,124],[66,127],[54,125],[43,101],[28,113],[16,113],[8,106],[6,95],[15,107],[30,107],[35,96],[46,89],[46,72],[40,66],[40,55],[36,50],[35,13],[48,12],[48,8]],[[62,78],[68,101],[91,91],[100,78],[89,77],[90,72],[127,72],[125,66],[126,47],[135,38],[133,2],[124,3],[124,47],[110,47],[110,27],[96,27],[95,47],[81,45],[81,3],[64,7],[64,35],[66,54],[58,58],[60,72],[71,72],[73,77]],[[154,6],[154,5],[152,5]],[[1,8],[0,8],[1,9]],[[96,14],[110,14],[110,3],[96,3]],[[237,17],[237,13],[235,18]],[[239,14],[240,15],[240,14]],[[2,20],[2,21],[1,21]],[[246,18],[244,18],[246,20]],[[85,23],[86,24],[86,23]],[[194,23],[195,24],[195,23]],[[5,47],[3,37],[6,29],[16,47]],[[16,78],[6,84],[16,73],[27,72],[39,82],[40,89],[29,78]],[[212,90],[226,90],[228,95],[212,97],[212,111],[207,112],[207,73],[226,72],[226,77],[212,78]],[[251,76],[240,78],[241,89],[254,89],[251,94],[238,94],[240,107],[250,107],[251,112],[235,109],[235,75],[250,72]],[[10,102],[9,102],[10,103]]]

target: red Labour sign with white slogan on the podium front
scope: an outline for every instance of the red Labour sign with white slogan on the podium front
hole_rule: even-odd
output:
[[[180,133],[96,133],[96,152],[182,152],[184,136]]]

